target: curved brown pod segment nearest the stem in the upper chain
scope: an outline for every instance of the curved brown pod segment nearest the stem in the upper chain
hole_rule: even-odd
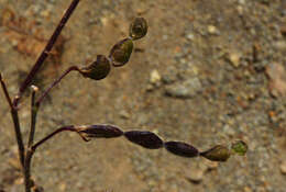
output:
[[[105,55],[98,55],[96,61],[81,68],[79,72],[86,78],[101,80],[108,76],[110,68],[111,67],[107,57]]]

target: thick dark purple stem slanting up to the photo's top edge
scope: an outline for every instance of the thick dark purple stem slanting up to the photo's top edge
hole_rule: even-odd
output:
[[[38,69],[42,67],[42,65],[44,64],[46,57],[48,56],[51,49],[53,48],[57,37],[59,36],[62,30],[64,29],[65,24],[67,23],[68,19],[70,18],[72,13],[75,11],[78,2],[80,0],[73,0],[73,2],[70,3],[69,8],[66,10],[65,14],[63,15],[61,22],[58,23],[56,30],[54,31],[53,35],[51,36],[51,38],[48,39],[47,45],[45,46],[44,50],[42,52],[42,54],[40,55],[40,57],[37,58],[36,63],[34,64],[32,70],[30,71],[30,74],[28,75],[26,79],[24,80],[24,82],[21,84],[21,88],[19,90],[18,97],[14,99],[14,106],[18,105],[20,99],[22,98],[22,94],[24,93],[24,91],[26,90],[26,88],[30,86],[30,83],[32,82],[33,78],[35,77],[36,72],[38,71]]]

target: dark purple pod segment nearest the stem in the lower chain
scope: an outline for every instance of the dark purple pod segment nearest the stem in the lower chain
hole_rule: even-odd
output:
[[[123,132],[113,125],[88,125],[79,126],[78,133],[85,137],[112,138],[120,137]]]

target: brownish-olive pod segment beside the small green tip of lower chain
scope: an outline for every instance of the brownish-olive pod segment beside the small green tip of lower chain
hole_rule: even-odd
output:
[[[200,156],[212,161],[227,161],[230,158],[230,155],[231,153],[228,147],[222,145],[217,145],[209,150],[200,153]]]

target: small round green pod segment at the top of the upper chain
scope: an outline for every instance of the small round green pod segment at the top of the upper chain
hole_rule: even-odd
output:
[[[129,29],[129,36],[132,39],[139,39],[144,37],[147,34],[147,22],[144,18],[136,18],[131,24]]]

